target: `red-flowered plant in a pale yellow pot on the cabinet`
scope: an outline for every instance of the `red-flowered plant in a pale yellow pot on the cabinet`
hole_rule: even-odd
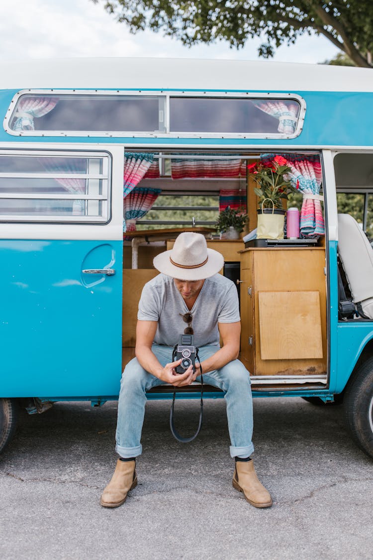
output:
[[[291,167],[287,165],[285,157],[275,156],[268,163],[254,163],[248,165],[249,173],[259,185],[254,193],[259,197],[257,239],[284,239],[285,209],[282,201],[287,200],[288,194],[296,192],[289,177]]]

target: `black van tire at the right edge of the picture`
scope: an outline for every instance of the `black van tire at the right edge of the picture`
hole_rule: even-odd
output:
[[[353,440],[373,457],[373,357],[357,368],[347,386],[343,404]]]

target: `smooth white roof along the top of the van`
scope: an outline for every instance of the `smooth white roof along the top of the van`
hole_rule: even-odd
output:
[[[68,58],[0,64],[0,89],[26,88],[373,91],[373,70],[186,58]]]

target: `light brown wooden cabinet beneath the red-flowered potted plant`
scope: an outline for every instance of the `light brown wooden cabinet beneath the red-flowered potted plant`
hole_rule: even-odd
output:
[[[325,249],[252,248],[240,255],[240,359],[251,375],[325,374]]]

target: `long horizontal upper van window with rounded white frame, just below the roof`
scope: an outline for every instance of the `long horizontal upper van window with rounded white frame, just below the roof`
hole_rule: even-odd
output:
[[[12,136],[295,138],[305,112],[298,94],[22,90],[3,126]]]

